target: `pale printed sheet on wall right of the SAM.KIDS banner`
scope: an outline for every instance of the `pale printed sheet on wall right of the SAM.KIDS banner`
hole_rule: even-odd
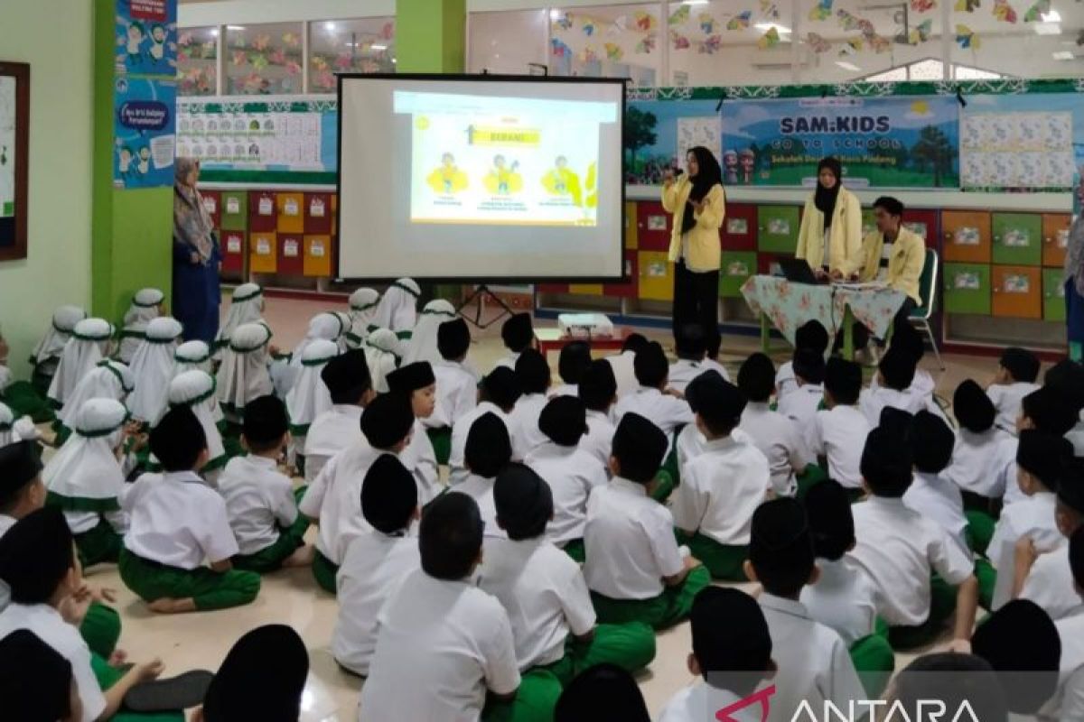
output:
[[[1084,163],[1076,93],[969,95],[960,118],[965,191],[1070,191]]]

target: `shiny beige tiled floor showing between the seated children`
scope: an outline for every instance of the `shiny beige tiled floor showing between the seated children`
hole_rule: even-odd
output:
[[[264,317],[274,330],[274,343],[289,349],[301,339],[309,317],[327,310],[315,301],[269,299]],[[345,304],[344,304],[345,310]],[[223,306],[224,311],[224,306]],[[540,321],[543,325],[544,321]],[[472,357],[479,368],[489,366],[501,355],[500,326],[476,334]],[[667,344],[667,334],[657,329],[645,331]],[[757,349],[751,337],[726,337],[723,360],[732,376],[741,359]],[[776,362],[785,359],[787,350],[780,343]],[[990,381],[995,362],[991,358],[947,356],[947,370],[941,371],[932,356],[924,362],[938,382],[938,393],[951,398],[952,390],[963,379],[971,377],[982,384]],[[556,366],[556,358],[551,359]],[[314,533],[310,530],[310,537]],[[176,674],[193,668],[214,670],[233,642],[244,632],[270,622],[288,623],[305,639],[310,651],[311,674],[304,703],[305,722],[317,720],[345,721],[358,719],[357,704],[361,681],[336,667],[328,652],[335,625],[335,599],[321,591],[308,569],[283,570],[263,578],[259,599],[251,605],[222,612],[179,616],[157,616],[147,612],[136,596],[125,589],[112,566],[89,569],[88,580],[117,591],[117,608],[124,618],[120,646],[133,660],[160,657],[166,673]],[[748,587],[752,587],[748,585]],[[648,708],[658,713],[662,705],[683,685],[692,681],[686,669],[689,649],[688,627],[680,625],[662,632],[658,639],[658,655],[640,678]],[[898,657],[898,668],[909,657]],[[273,660],[269,660],[273,664]],[[384,721],[372,721],[384,722]]]

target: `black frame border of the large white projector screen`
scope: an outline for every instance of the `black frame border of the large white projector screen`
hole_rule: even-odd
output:
[[[621,210],[618,237],[620,274],[614,276],[479,276],[479,275],[448,275],[448,276],[416,276],[417,280],[427,284],[462,284],[462,285],[533,285],[533,284],[624,284],[631,280],[631,276],[625,273],[625,246],[624,229],[628,227],[629,219],[625,218],[625,159],[624,159],[624,114],[628,103],[628,80],[624,78],[585,78],[568,76],[532,76],[532,75],[495,75],[495,74],[440,74],[440,73],[343,73],[337,74],[336,97],[338,107],[338,122],[336,128],[338,148],[335,171],[335,192],[338,195],[338,204],[335,207],[335,227],[338,231],[339,244],[343,238],[343,84],[346,80],[427,80],[427,81],[449,81],[449,82],[524,82],[524,83],[571,83],[571,84],[620,84],[621,104],[618,110],[618,137],[620,141],[619,160],[621,169],[620,198]],[[340,268],[341,253],[338,244],[335,249],[335,280],[337,283],[365,283],[365,284],[391,284],[398,277],[411,276],[344,276]],[[414,276],[411,276],[414,277]]]

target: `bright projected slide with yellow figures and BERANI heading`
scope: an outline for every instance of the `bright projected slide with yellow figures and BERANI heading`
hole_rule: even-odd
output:
[[[411,221],[594,226],[609,103],[396,91],[410,116]]]

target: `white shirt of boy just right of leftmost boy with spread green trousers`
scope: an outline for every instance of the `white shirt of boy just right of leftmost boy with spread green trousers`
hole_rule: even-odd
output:
[[[274,459],[249,455],[230,459],[218,477],[230,527],[242,554],[255,554],[279,541],[280,527],[297,521],[294,485],[279,473]]]

